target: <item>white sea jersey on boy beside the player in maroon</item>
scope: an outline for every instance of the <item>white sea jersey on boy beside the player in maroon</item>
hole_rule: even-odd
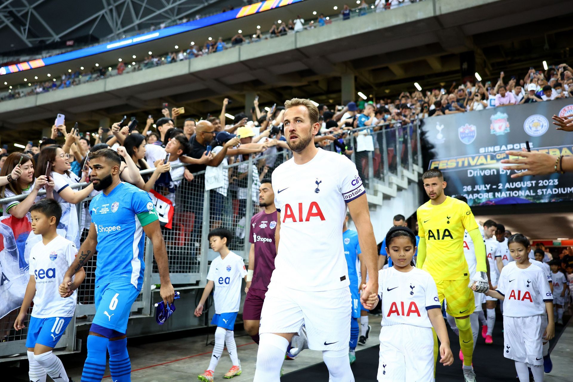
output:
[[[229,252],[224,259],[218,256],[211,262],[207,280],[215,283],[215,313],[239,311],[242,278],[246,274],[243,258],[234,252]]]

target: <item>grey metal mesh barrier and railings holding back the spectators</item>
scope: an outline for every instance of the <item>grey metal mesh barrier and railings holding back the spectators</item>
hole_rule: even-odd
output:
[[[390,176],[401,177],[403,171],[413,172],[414,165],[422,166],[418,121],[398,127],[384,124],[379,125],[379,128],[378,131],[372,131],[372,128],[355,129],[343,139],[348,149],[352,149],[350,159],[356,163],[367,194],[371,195],[374,195],[376,183],[387,185]],[[355,133],[358,133],[358,136],[355,136]],[[327,142],[323,149],[334,151],[335,147],[331,141]],[[357,151],[358,149],[361,151]],[[206,174],[205,171],[193,174],[194,179],[191,182],[174,178],[173,183],[176,185],[174,194],[163,192],[164,190],[160,188],[156,190],[171,200],[174,206],[171,229],[162,227],[162,232],[168,254],[171,282],[176,285],[176,289],[205,286],[208,263],[216,256],[209,247],[207,235],[215,227],[225,227],[233,233],[229,249],[241,255],[245,263],[248,263],[250,219],[260,211],[258,206],[260,180],[270,178],[274,168],[288,160],[291,155],[290,151],[282,150],[264,156],[250,156],[248,160],[223,166],[223,187],[213,190],[205,190],[206,178],[208,184],[214,184],[213,174]],[[176,164],[172,168],[180,166],[183,165]],[[152,170],[144,170],[142,174],[150,171]],[[326,168],[325,172],[328,171],[336,169]],[[215,180],[216,182],[221,180]],[[80,188],[86,184],[78,183],[71,187]],[[45,194],[42,191],[40,192]],[[0,199],[0,204],[21,200],[25,196]],[[85,239],[89,227],[86,220],[89,200],[90,198],[77,204],[82,240]],[[74,350],[76,325],[91,322],[89,316],[95,314],[96,259],[97,254],[85,266],[85,281],[77,291],[76,317],[57,344],[60,350],[68,352]],[[131,307],[132,315],[136,313],[139,317],[153,314],[151,291],[154,285],[159,283],[152,245],[148,239],[144,250],[144,261],[146,269],[142,292]],[[12,360],[6,356],[22,353],[25,349],[27,328],[19,332],[13,329],[18,310],[0,319],[0,330],[2,330],[0,334],[7,340],[0,342],[0,362]],[[32,308],[29,313],[31,310]],[[26,327],[29,319],[28,315]],[[178,314],[171,318],[171,320],[177,319]],[[156,326],[156,328],[159,332],[161,327]]]

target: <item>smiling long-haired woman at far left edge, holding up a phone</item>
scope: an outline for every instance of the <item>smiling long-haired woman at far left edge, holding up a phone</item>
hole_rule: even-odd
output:
[[[26,216],[32,204],[42,199],[42,196],[38,196],[38,191],[42,187],[46,188],[46,197],[53,198],[53,180],[48,181],[46,175],[41,175],[34,182],[34,160],[19,152],[13,152],[6,158],[6,163],[0,171],[0,182],[3,183],[0,187],[0,198],[28,195],[24,200],[3,204],[3,216],[12,215],[18,219]]]

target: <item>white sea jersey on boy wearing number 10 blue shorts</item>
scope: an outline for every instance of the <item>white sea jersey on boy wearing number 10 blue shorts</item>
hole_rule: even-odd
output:
[[[76,309],[76,296],[63,298],[59,287],[64,274],[76,258],[73,242],[57,235],[48,245],[36,243],[30,251],[30,275],[36,279],[36,295],[32,317],[72,317]]]

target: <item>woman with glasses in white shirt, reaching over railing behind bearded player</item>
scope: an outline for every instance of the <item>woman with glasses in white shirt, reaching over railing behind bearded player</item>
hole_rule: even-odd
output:
[[[71,184],[79,182],[76,174],[69,171],[69,154],[65,153],[58,146],[48,146],[42,149],[38,156],[38,170],[45,169],[48,163],[52,165],[50,180],[54,181],[54,200],[62,207],[62,217],[58,225],[58,234],[72,241],[78,248],[80,247],[80,227],[77,215],[77,206],[82,200],[87,198],[93,191],[92,184],[83,190],[72,190]]]

